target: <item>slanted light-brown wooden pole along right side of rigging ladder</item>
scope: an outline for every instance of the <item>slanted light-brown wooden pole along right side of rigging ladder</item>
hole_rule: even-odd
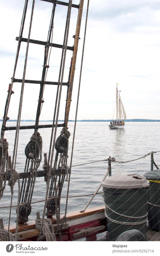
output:
[[[79,42],[79,36],[80,36],[80,25],[81,25],[81,19],[82,19],[83,3],[84,3],[84,0],[80,0],[80,6],[79,6],[79,12],[78,12],[78,18],[77,18],[76,35],[75,35],[75,41],[74,41],[74,51],[73,51],[71,76],[70,76],[70,81],[69,81],[69,90],[68,90],[68,97],[67,97],[65,127],[67,127],[70,105],[71,105],[71,97],[72,97],[74,73],[75,73],[75,66],[76,66],[78,42]]]

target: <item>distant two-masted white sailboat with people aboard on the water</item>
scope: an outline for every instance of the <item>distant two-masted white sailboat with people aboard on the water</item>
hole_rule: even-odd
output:
[[[118,85],[118,83],[117,83]],[[119,91],[119,97],[118,97],[118,88],[116,87],[116,109],[117,109],[117,114],[116,114],[116,120],[111,122],[109,126],[110,129],[124,129],[125,125],[125,119],[127,118],[126,112],[121,100]]]

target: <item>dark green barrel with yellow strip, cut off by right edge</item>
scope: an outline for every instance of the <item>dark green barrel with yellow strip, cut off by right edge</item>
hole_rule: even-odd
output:
[[[147,207],[149,229],[160,231],[160,171],[146,172],[144,176],[150,183]]]

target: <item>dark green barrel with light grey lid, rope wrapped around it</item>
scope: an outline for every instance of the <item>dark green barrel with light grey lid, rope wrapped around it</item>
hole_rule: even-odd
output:
[[[140,230],[146,238],[149,181],[139,174],[124,173],[102,182],[108,240],[127,230]]]

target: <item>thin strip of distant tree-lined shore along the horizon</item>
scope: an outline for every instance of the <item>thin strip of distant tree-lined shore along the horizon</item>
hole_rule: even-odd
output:
[[[2,122],[3,119],[0,119]],[[58,120],[59,122],[64,122],[64,120]],[[86,120],[77,120],[77,122],[111,122],[113,119],[86,119]],[[8,120],[7,122],[17,122],[17,120]],[[35,120],[21,120],[21,122],[35,122]],[[41,120],[39,122],[52,122],[52,120]],[[74,120],[68,120],[68,122],[74,122]],[[156,119],[126,119],[125,122],[160,122]]]

